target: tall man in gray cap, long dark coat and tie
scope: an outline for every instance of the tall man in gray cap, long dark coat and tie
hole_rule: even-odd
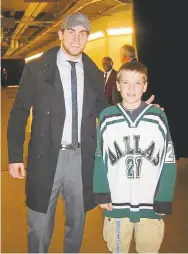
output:
[[[66,213],[64,252],[79,252],[86,211],[95,207],[96,117],[106,103],[102,72],[83,53],[90,30],[80,13],[64,20],[61,47],[25,66],[10,114],[9,172],[23,179],[25,126],[33,109],[26,179],[29,253],[48,252],[59,195]]]

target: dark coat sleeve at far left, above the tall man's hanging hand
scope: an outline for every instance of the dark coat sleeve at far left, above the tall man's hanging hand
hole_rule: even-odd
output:
[[[29,66],[26,65],[8,121],[7,139],[9,163],[23,162],[25,128],[30,114],[30,108],[33,105],[35,83],[36,81],[33,80]]]

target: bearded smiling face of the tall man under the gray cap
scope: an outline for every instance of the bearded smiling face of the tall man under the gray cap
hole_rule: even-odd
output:
[[[63,49],[73,57],[79,56],[88,41],[88,31],[83,26],[74,26],[70,29],[58,32],[61,46]]]

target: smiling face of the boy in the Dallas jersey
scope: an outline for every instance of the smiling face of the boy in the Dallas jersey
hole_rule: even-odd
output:
[[[143,74],[136,71],[123,70],[120,73],[119,82],[117,82],[117,89],[121,93],[123,102],[127,106],[130,105],[134,108],[134,105],[135,107],[139,106],[142,94],[147,89],[147,82]]]

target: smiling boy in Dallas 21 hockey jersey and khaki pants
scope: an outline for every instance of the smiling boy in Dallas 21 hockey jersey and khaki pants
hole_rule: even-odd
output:
[[[129,62],[117,74],[122,103],[99,117],[94,169],[96,203],[104,209],[103,236],[111,252],[159,251],[163,216],[172,213],[176,163],[165,113],[141,100],[147,69]]]

